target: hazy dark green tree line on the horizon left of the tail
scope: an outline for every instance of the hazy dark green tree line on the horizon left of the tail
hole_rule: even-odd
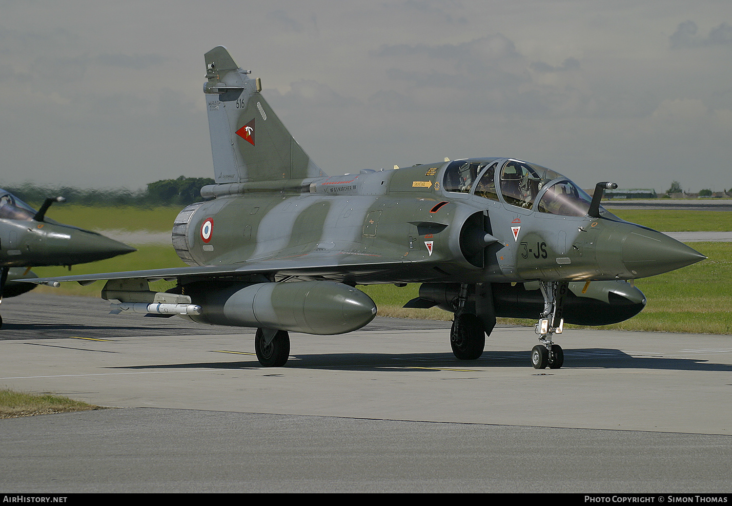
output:
[[[25,202],[43,202],[46,197],[64,197],[68,203],[81,205],[135,205],[152,207],[156,205],[187,205],[200,202],[201,187],[214,184],[212,178],[161,179],[147,184],[146,189],[132,191],[126,188],[81,189],[73,186],[37,186],[25,183],[20,186],[5,186]]]

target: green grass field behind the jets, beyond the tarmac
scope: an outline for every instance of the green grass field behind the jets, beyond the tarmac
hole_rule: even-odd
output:
[[[167,232],[179,208],[88,208],[58,205],[49,216],[60,222],[90,230],[149,230]],[[671,231],[724,231],[732,230],[732,213],[720,211],[665,211],[665,210],[612,210],[630,222],[643,224],[664,232]],[[63,211],[61,213],[61,211]],[[58,213],[58,214],[57,214]],[[100,273],[138,269],[182,266],[170,244],[135,245],[138,252],[102,262],[75,265],[73,273]],[[635,283],[648,299],[641,314],[607,328],[637,331],[672,331],[702,333],[732,333],[732,243],[692,243],[691,246],[706,254],[708,260],[652,278],[638,279]],[[39,276],[63,276],[64,268],[34,268]],[[165,290],[170,284],[157,282],[153,290]],[[98,296],[102,282],[81,287],[64,283],[61,288],[39,287],[37,290],[70,295]],[[392,284],[359,287],[369,294],[378,306],[379,314],[392,317],[414,317],[451,320],[452,314],[441,309],[403,309],[406,301],[417,297],[418,284],[395,287]],[[529,320],[501,320],[534,325]]]

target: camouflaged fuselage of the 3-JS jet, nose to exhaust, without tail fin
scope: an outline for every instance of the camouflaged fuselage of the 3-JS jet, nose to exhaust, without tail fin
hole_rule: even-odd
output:
[[[703,255],[624,222],[563,175],[515,159],[206,186],[173,243],[190,265],[332,254],[399,261],[403,282],[636,279]],[[343,281],[343,275],[322,276]],[[395,282],[395,273],[346,281]]]

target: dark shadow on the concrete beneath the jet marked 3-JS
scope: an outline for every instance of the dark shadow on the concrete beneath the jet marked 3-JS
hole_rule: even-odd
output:
[[[674,371],[732,371],[732,365],[711,363],[694,358],[633,357],[621,350],[606,348],[578,348],[564,350],[562,369],[665,369]],[[262,369],[262,371],[286,371],[287,369],[328,369],[343,371],[434,371],[476,368],[523,367],[529,363],[530,352],[487,351],[477,360],[456,360],[449,353],[329,353],[326,355],[291,355],[287,367],[263,368],[254,356],[251,360],[234,362],[199,362],[117,366],[109,369]],[[534,369],[526,368],[527,371]],[[545,369],[543,374],[559,374],[559,370]]]

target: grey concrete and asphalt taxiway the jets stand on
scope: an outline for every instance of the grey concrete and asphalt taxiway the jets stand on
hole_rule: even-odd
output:
[[[292,333],[262,369],[253,329],[32,292],[1,309],[0,385],[125,408],[0,420],[4,491],[731,488],[730,336],[565,331],[564,367],[537,371],[529,328],[460,361],[449,322],[377,318]]]

